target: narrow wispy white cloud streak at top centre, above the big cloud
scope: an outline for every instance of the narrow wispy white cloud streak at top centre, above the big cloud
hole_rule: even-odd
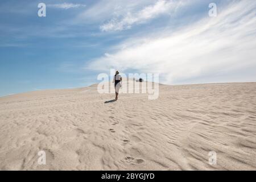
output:
[[[120,31],[129,29],[133,24],[144,23],[162,14],[171,14],[178,7],[184,5],[184,1],[159,0],[154,5],[144,7],[135,13],[127,12],[121,19],[113,18],[108,23],[100,26],[101,31]]]

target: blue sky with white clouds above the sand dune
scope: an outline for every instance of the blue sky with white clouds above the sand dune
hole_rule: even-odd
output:
[[[0,96],[89,86],[110,69],[164,84],[255,82],[255,10],[255,0],[1,0]]]

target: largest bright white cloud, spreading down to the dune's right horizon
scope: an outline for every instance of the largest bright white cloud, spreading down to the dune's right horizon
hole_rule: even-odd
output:
[[[207,16],[176,32],[164,30],[126,40],[86,68],[158,72],[161,81],[169,84],[223,82],[236,73],[239,81],[256,81],[255,71],[249,69],[256,68],[255,9],[256,1],[235,1],[216,18]]]

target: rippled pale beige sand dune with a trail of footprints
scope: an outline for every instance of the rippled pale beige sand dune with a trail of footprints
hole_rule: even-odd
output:
[[[108,104],[96,85],[2,97],[0,169],[256,169],[256,83],[159,90]]]

